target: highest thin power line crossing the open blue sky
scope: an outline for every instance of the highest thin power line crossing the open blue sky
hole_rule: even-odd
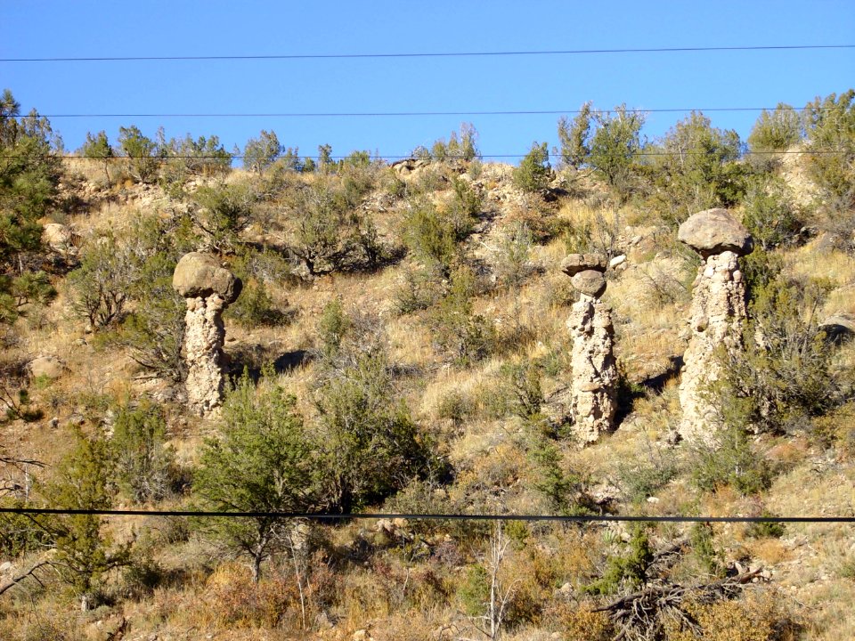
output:
[[[855,45],[737,45],[693,47],[624,47],[619,49],[555,49],[542,51],[483,52],[401,52],[401,53],[276,53],[257,55],[175,55],[175,56],[54,56],[45,58],[0,58],[0,62],[154,62],[154,61],[274,61],[274,60],[358,60],[387,58],[476,58],[499,56],[592,55],[604,53],[711,53],[804,51],[852,49]]]

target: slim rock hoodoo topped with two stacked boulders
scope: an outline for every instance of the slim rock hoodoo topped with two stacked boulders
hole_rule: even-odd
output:
[[[608,262],[598,254],[571,254],[561,271],[571,277],[581,296],[573,304],[567,328],[573,337],[571,409],[574,430],[582,442],[594,442],[614,427],[617,367],[612,353],[612,311],[599,300],[606,291]]]

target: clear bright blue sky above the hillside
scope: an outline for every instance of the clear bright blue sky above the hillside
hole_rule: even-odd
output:
[[[652,7],[652,8],[651,8]],[[684,46],[851,45],[851,0],[688,2],[242,2],[2,0],[0,58],[449,53]],[[281,113],[802,107],[855,85],[855,49],[272,61],[0,62],[23,111]],[[745,138],[756,112],[708,112]],[[664,134],[684,114],[650,114]],[[51,118],[69,150],[87,131],[216,134],[261,129],[316,154],[408,153],[461,121],[485,154],[557,143],[558,115],[374,118]]]

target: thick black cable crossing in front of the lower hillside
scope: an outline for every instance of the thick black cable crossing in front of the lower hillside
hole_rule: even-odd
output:
[[[855,516],[638,516],[638,515],[489,515],[489,514],[384,514],[314,512],[229,512],[204,510],[64,509],[58,507],[0,507],[0,514],[93,516],[194,516],[212,518],[283,518],[310,521],[352,519],[409,519],[412,521],[551,521],[558,523],[855,523]]]

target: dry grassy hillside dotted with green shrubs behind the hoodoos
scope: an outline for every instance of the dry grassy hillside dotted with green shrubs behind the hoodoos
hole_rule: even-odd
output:
[[[615,167],[590,144],[558,169],[536,146],[514,167],[444,142],[309,170],[54,157],[39,237],[0,255],[0,500],[851,517],[851,151],[818,167],[808,134],[729,156],[708,120],[680,126],[660,149],[721,154]],[[720,431],[692,442],[679,385],[702,259],[677,233],[710,207],[753,234],[749,320],[704,391]],[[202,416],[172,288],[189,252],[242,281],[223,405]],[[574,253],[608,262],[615,330],[615,427],[591,443],[570,389],[580,295],[559,267]],[[855,637],[851,523],[4,514],[0,540],[3,638]]]

